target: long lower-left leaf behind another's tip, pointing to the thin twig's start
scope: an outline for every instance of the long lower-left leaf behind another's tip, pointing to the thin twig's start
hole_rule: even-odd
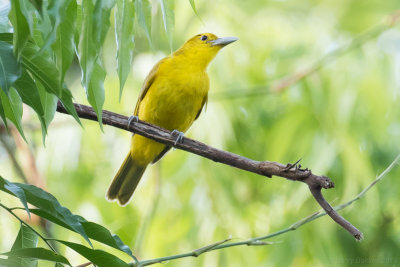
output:
[[[30,209],[30,212],[52,223],[55,223],[61,227],[74,231],[74,229],[72,229],[68,224],[52,216],[45,210]],[[111,232],[107,228],[94,222],[88,222],[84,218],[80,218],[80,222],[82,223],[82,226],[85,229],[85,232],[90,239],[96,240],[100,243],[103,243],[105,245],[118,249],[122,252],[125,252],[126,254],[135,259],[135,256],[133,255],[131,249],[122,242],[119,236],[111,234]]]

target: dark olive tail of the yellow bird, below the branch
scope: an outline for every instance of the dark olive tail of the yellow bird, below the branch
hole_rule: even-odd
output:
[[[133,195],[140,178],[142,178],[146,167],[147,165],[142,166],[137,164],[137,162],[132,158],[131,153],[129,153],[108,188],[107,199],[117,199],[119,204],[127,204]]]

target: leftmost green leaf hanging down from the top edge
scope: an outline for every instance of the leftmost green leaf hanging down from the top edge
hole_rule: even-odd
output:
[[[30,36],[28,21],[22,14],[20,0],[11,1],[11,10],[8,16],[14,31],[14,54],[19,59]]]

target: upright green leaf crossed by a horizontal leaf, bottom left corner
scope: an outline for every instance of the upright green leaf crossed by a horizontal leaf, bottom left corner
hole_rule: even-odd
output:
[[[21,224],[21,228],[11,248],[11,251],[23,248],[36,248],[37,244],[38,236],[29,227]],[[10,267],[36,267],[37,265],[37,260],[23,259],[13,255],[9,255],[8,259],[13,261]]]

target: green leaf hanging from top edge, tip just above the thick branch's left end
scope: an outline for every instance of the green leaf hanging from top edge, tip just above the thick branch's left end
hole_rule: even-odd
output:
[[[71,66],[75,56],[74,33],[76,27],[76,7],[76,1],[70,1],[66,7],[66,14],[68,15],[61,21],[57,29],[55,42],[52,45],[61,83],[64,81],[65,73]]]

